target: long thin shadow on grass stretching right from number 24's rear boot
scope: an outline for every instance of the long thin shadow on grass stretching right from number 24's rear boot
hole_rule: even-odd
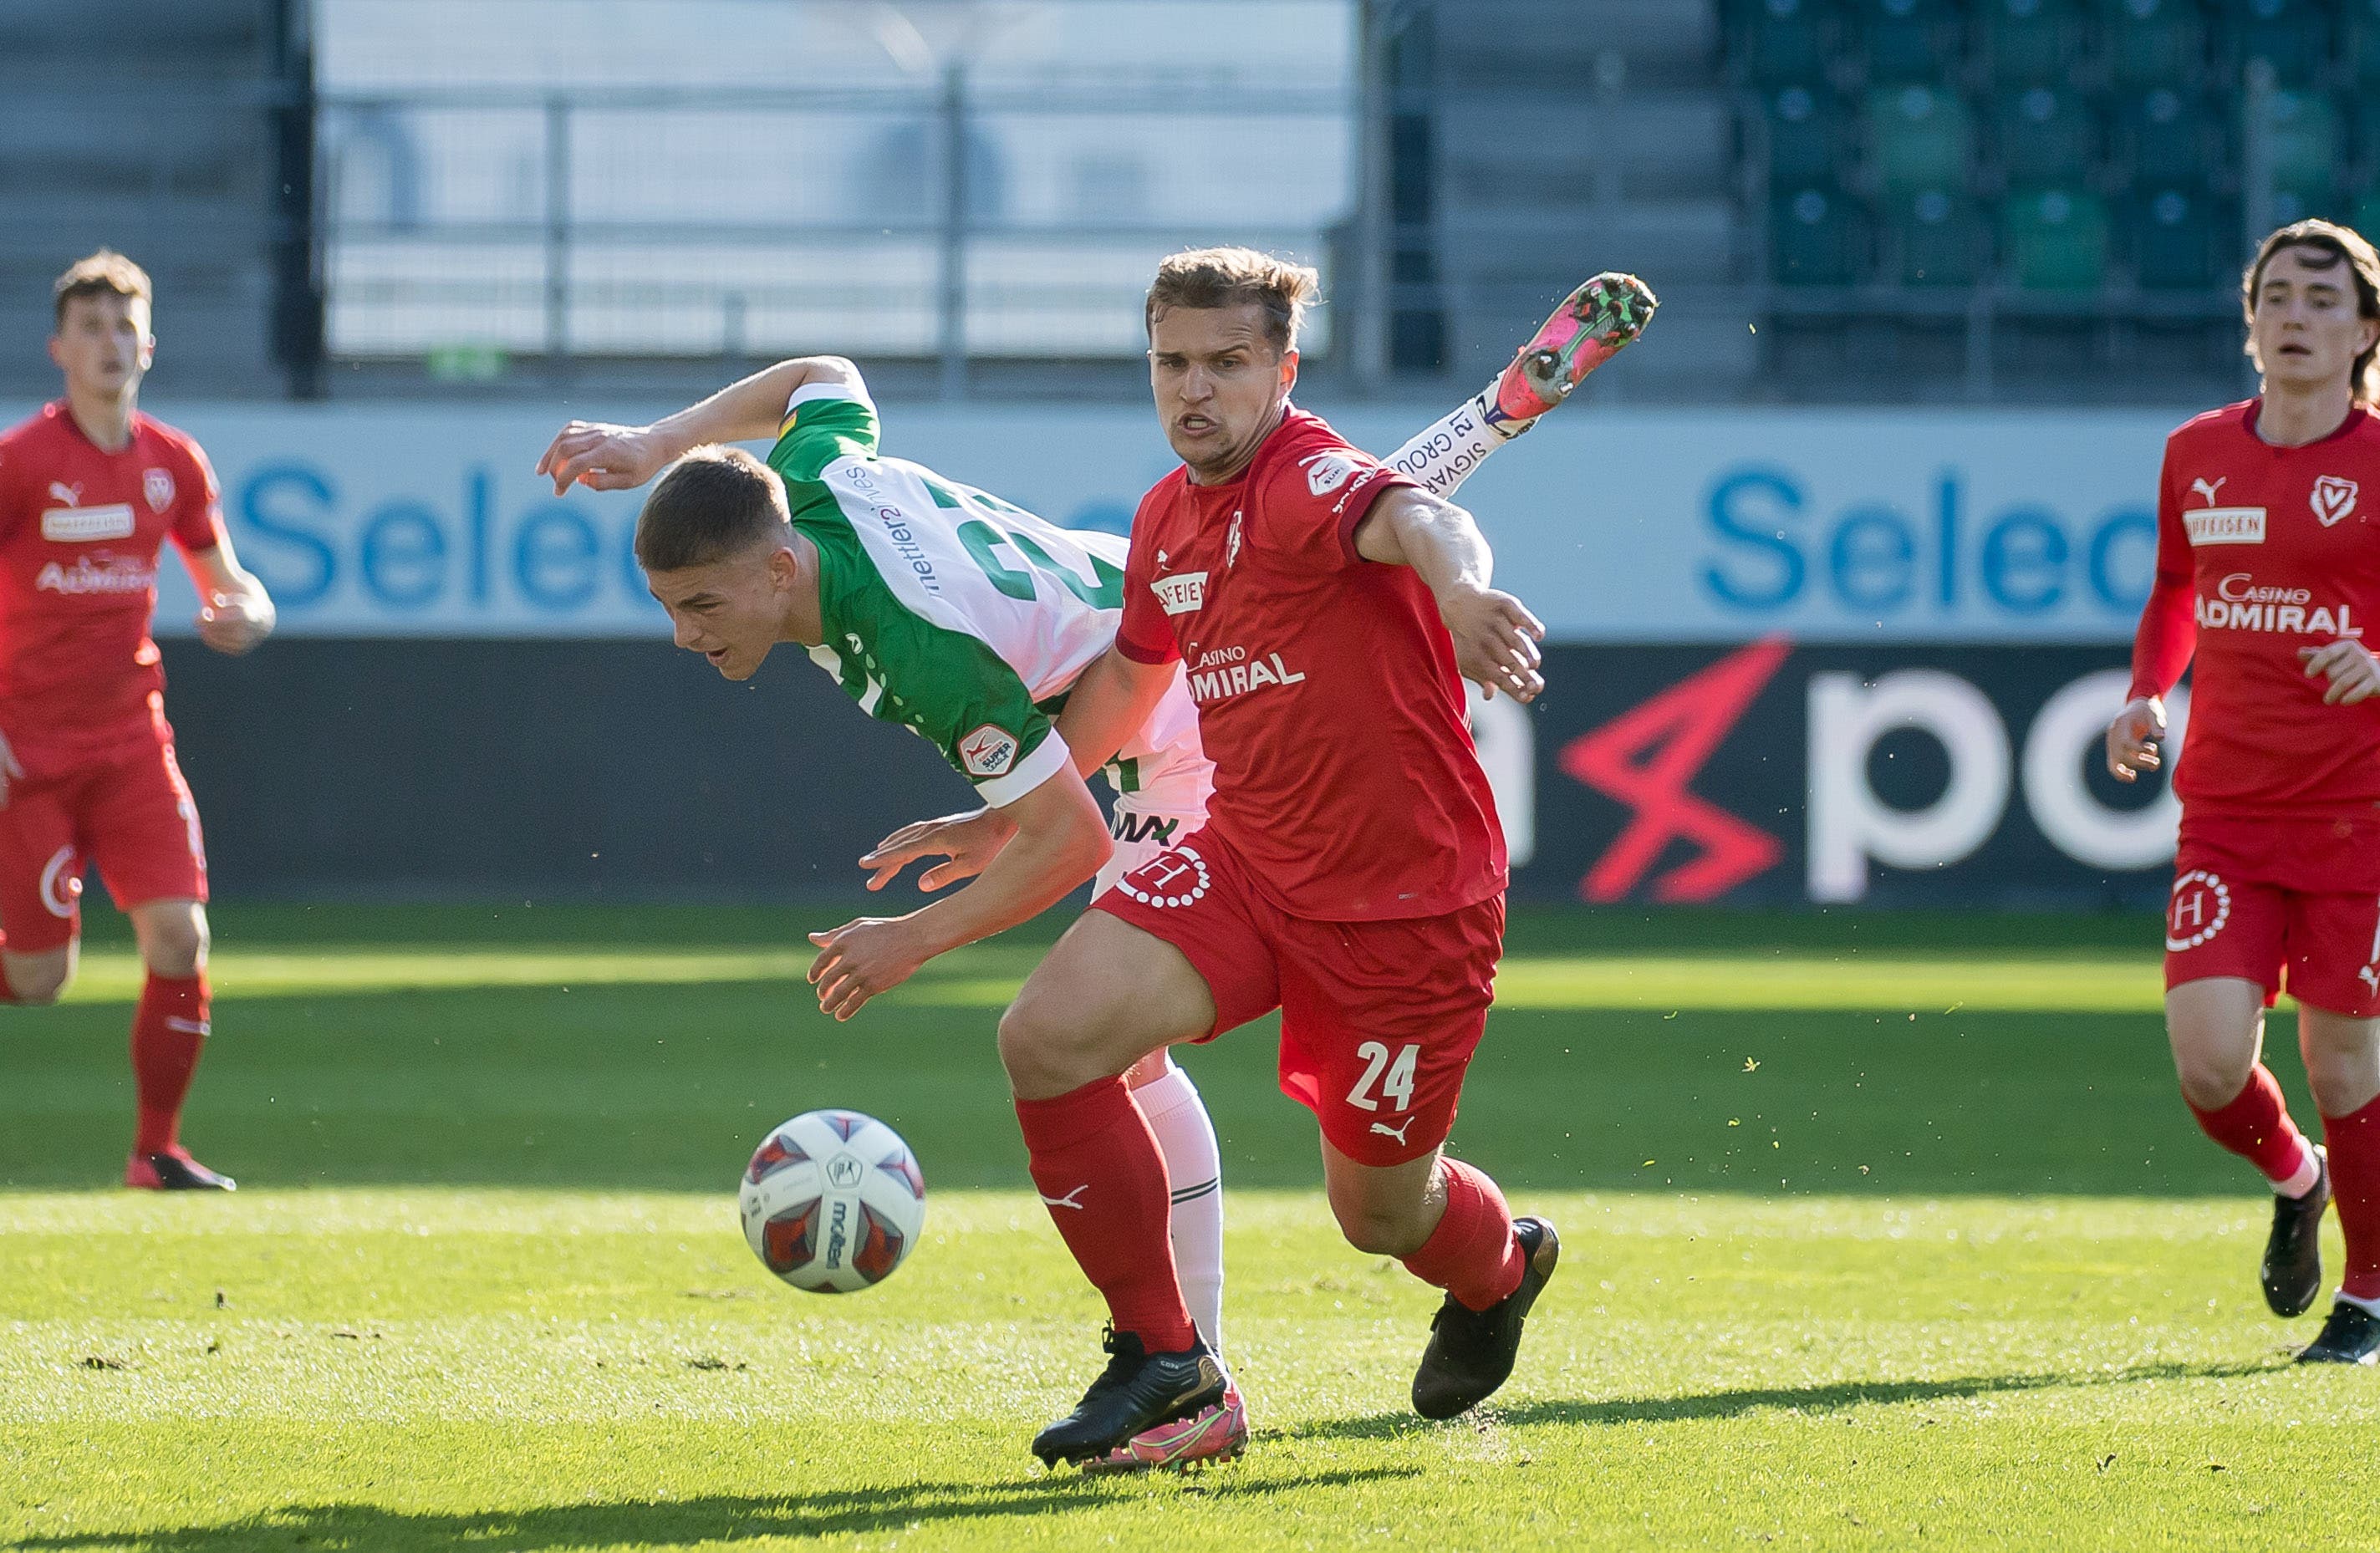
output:
[[[2061,1387],[2135,1387],[2156,1379],[2223,1379],[2235,1375],[2263,1375],[2287,1367],[2282,1360],[2223,1358],[2204,1365],[2128,1365],[2123,1370],[2085,1370],[2078,1375],[1959,1375],[1952,1379],[1842,1379],[1823,1387],[1745,1387],[1733,1391],[1704,1391],[1699,1396],[1623,1396],[1599,1403],[1587,1401],[1533,1401],[1511,1408],[1490,1408],[1488,1417],[1499,1425],[1671,1425],[1711,1417],[1740,1417],[1745,1413],[1840,1413],[1844,1408],[1925,1403],[1964,1396],[1997,1396],[2006,1391],[2056,1391]],[[1366,1417],[1333,1417],[1299,1429],[1288,1429],[1297,1439],[1397,1439],[1438,1425],[1411,1413],[1373,1413]]]

